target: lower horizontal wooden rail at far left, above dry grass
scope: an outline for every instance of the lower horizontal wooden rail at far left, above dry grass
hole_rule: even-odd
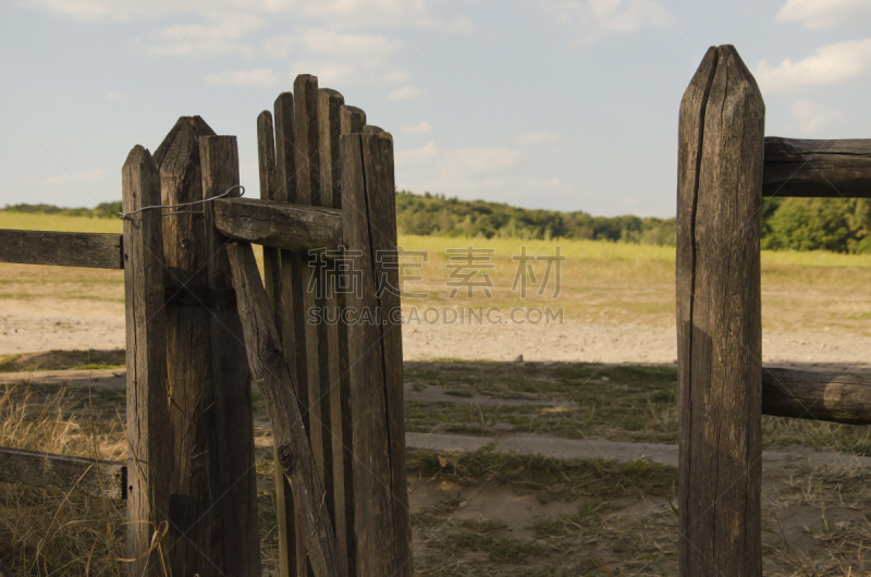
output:
[[[52,455],[0,446],[0,481],[122,500],[127,498],[123,463]]]

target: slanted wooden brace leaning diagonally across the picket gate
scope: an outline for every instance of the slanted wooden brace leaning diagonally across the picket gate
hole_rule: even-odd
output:
[[[291,482],[299,531],[305,536],[308,560],[316,577],[344,577],[347,569],[338,554],[335,533],[326,511],[323,483],[308,443],[303,417],[293,394],[291,371],[260,272],[249,244],[231,243],[228,255],[238,311],[245,333],[254,382],[266,401],[274,444],[284,475]]]

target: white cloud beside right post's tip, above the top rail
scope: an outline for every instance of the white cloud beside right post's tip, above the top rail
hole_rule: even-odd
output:
[[[871,38],[818,48],[813,56],[794,62],[787,58],[776,66],[759,63],[756,78],[763,90],[783,91],[801,86],[849,81],[871,70]]]

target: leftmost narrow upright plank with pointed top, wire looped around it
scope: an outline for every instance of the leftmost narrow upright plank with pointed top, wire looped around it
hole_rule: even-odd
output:
[[[125,212],[160,204],[160,174],[136,146],[122,170]],[[127,575],[159,576],[163,548],[151,536],[167,520],[173,443],[167,406],[167,319],[163,311],[163,234],[159,210],[124,219],[124,309],[127,365]]]

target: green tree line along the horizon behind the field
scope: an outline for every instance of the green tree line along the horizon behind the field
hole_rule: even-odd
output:
[[[114,218],[121,202],[95,208],[13,205],[13,212]],[[764,198],[760,210],[762,248],[871,254],[871,200],[864,198]],[[675,219],[593,217],[513,207],[502,202],[408,191],[396,192],[396,222],[403,234],[524,240],[586,238],[674,246]]]

